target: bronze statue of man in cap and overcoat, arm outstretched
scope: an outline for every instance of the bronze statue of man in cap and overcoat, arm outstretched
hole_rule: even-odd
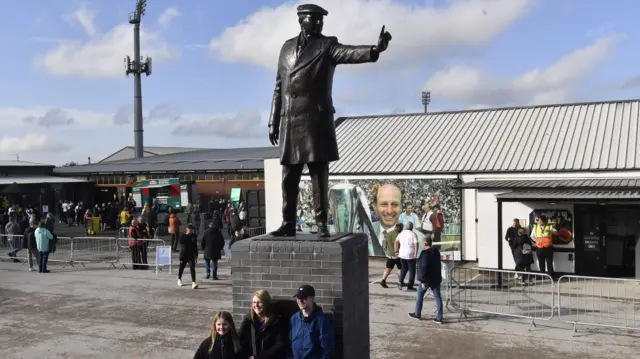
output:
[[[391,34],[384,30],[378,45],[348,46],[336,37],[323,36],[323,17],[318,5],[298,6],[300,34],[280,50],[276,86],[269,117],[269,140],[277,145],[280,135],[282,164],[282,225],[274,236],[296,235],[296,207],[302,170],[309,168],[318,235],[329,237],[329,162],[337,161],[334,126],[333,73],[336,65],[376,62],[387,49]]]

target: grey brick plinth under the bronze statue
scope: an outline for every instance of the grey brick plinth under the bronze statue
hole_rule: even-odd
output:
[[[369,273],[367,236],[331,238],[298,235],[295,240],[258,236],[231,247],[233,316],[237,323],[251,310],[251,294],[264,288],[295,306],[301,284],[316,289],[316,303],[336,334],[336,359],[368,359]]]

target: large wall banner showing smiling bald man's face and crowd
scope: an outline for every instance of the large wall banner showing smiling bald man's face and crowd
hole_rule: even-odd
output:
[[[423,248],[431,237],[441,251],[459,251],[460,190],[456,179],[350,179],[329,180],[329,230],[366,233],[369,255],[393,255],[388,232],[396,223],[413,229]],[[299,230],[315,224],[311,182],[300,182]],[[459,255],[459,254],[458,254]]]

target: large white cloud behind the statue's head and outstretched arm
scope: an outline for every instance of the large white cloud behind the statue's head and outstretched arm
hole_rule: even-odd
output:
[[[532,2],[460,0],[434,7],[397,0],[324,0],[321,5],[329,12],[324,33],[338,36],[345,44],[374,45],[381,26],[386,25],[393,40],[381,61],[398,65],[420,64],[431,56],[486,45],[522,17]],[[295,10],[300,3],[262,8],[225,29],[211,41],[210,49],[225,62],[275,69],[282,44],[300,31]]]

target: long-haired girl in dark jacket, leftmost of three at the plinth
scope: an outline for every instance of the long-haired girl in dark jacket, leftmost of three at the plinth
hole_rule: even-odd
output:
[[[240,345],[231,313],[220,312],[213,317],[211,335],[200,344],[193,359],[246,359],[247,357]]]

